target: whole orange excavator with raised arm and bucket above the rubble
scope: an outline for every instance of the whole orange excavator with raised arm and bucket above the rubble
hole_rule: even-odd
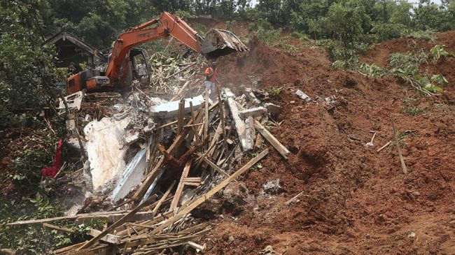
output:
[[[188,45],[189,48],[211,59],[231,52],[248,50],[246,45],[230,31],[211,29],[205,38],[202,38],[181,18],[165,12],[160,18],[153,19],[121,34],[113,45],[106,70],[87,69],[72,75],[66,80],[67,92],[73,94],[83,89],[99,91],[130,87],[132,80],[138,78],[137,66],[139,65],[135,61],[138,61],[137,59],[140,57],[143,57],[144,60],[144,63],[141,64],[143,67],[141,78],[149,78],[146,55],[134,46],[167,36],[173,36],[181,43]]]

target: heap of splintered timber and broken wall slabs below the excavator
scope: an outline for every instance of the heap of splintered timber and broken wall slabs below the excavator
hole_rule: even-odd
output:
[[[248,88],[241,96],[228,87],[218,89],[218,100],[211,101],[202,80],[193,78],[202,61],[158,65],[153,86],[134,82],[123,96],[80,92],[67,97],[60,108],[62,114],[69,110],[72,144],[86,159],[80,172],[85,202],[73,205],[63,217],[10,225],[44,224],[65,231],[50,222],[109,223],[102,230],[92,229],[91,240],[54,254],[203,252],[205,245],[196,241],[211,226],[200,215],[200,205],[230,187],[223,193],[227,203],[241,207],[246,187],[233,181],[267,155],[262,143],[267,140],[285,159],[289,151],[265,127],[269,115],[281,108],[266,103],[264,92]],[[245,152],[253,150],[255,156],[241,164]]]

